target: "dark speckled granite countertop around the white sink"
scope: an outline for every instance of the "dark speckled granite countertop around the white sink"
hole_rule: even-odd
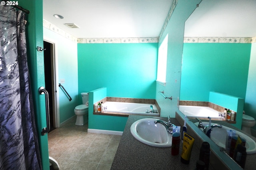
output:
[[[167,121],[166,117],[130,115],[128,117],[122,138],[120,140],[111,170],[146,170],[146,169],[168,169],[168,170],[191,170],[196,168],[199,160],[199,149],[193,145],[190,164],[180,162],[182,143],[178,155],[171,154],[171,147],[152,147],[137,141],[130,133],[130,126],[139,119],[156,118]],[[174,125],[180,126],[175,118],[171,118]],[[183,125],[182,125],[183,126]],[[212,166],[209,169],[213,169]]]

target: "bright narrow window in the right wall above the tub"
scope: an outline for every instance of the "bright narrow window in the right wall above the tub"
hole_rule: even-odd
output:
[[[157,62],[157,78],[156,82],[165,86],[166,83],[166,65],[167,65],[167,48],[168,48],[168,34],[162,41],[158,49]]]

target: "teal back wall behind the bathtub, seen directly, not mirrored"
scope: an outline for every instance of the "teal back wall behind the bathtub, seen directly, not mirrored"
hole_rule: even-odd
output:
[[[108,97],[156,96],[158,43],[78,43],[78,91],[106,87]]]

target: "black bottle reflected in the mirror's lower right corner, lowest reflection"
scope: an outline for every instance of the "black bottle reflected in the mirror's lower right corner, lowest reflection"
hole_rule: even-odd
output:
[[[246,147],[243,147],[242,145],[237,145],[234,157],[233,159],[242,167],[244,168],[245,166],[245,161],[246,161]]]

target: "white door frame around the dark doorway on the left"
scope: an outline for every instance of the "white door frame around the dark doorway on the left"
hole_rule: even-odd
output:
[[[44,36],[44,41],[52,44],[52,57],[51,57],[51,68],[52,68],[52,95],[53,95],[53,127],[60,127],[60,102],[59,102],[59,84],[58,84],[58,53],[57,43],[53,39]]]

